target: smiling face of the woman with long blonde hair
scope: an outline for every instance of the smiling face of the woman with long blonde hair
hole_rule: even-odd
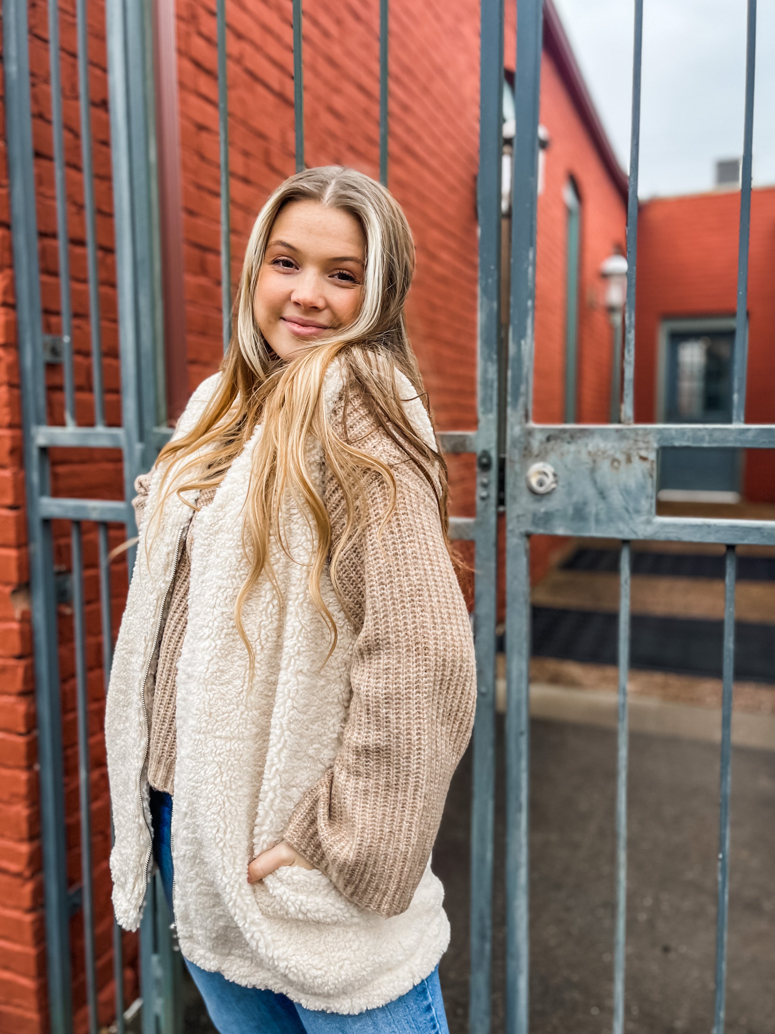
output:
[[[253,298],[261,334],[293,359],[348,327],[363,297],[366,238],[349,212],[291,202],[274,221]]]

